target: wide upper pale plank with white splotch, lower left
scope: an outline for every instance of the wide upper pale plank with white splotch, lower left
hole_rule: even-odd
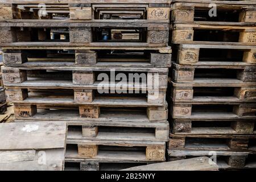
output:
[[[65,122],[2,123],[0,150],[65,148],[66,131]]]

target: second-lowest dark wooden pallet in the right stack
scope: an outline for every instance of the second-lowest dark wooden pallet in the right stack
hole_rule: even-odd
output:
[[[234,134],[172,134],[168,143],[169,150],[212,150],[256,152],[256,135]]]

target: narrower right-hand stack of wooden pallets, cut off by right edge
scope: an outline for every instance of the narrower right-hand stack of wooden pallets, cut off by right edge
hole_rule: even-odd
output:
[[[171,5],[169,160],[255,168],[255,2],[210,3]]]

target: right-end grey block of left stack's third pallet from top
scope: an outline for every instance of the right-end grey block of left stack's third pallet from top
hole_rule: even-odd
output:
[[[150,53],[150,63],[155,67],[171,67],[170,53]]]

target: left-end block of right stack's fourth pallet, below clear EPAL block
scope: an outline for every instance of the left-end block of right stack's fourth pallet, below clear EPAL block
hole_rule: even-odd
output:
[[[172,77],[175,82],[189,82],[194,80],[195,69],[172,70]]]

